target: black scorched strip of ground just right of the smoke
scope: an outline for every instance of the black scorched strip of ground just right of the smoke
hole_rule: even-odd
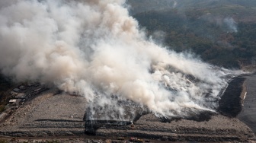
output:
[[[219,100],[219,113],[224,116],[235,117],[242,111],[240,95],[242,93],[242,84],[244,82],[245,78],[242,77],[232,79]]]

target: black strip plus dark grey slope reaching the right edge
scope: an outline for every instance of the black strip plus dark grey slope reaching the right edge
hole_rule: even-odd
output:
[[[244,106],[241,102],[242,84],[247,84]],[[219,100],[219,113],[237,117],[256,133],[256,75],[233,78]]]

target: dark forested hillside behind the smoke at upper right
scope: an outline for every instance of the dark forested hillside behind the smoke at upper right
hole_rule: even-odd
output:
[[[142,2],[138,1],[140,5]],[[163,2],[169,2],[169,8],[133,12],[149,36],[177,52],[194,52],[214,65],[226,68],[254,65],[256,2],[181,0],[178,2],[184,3],[176,4],[175,8],[171,7],[174,1]]]

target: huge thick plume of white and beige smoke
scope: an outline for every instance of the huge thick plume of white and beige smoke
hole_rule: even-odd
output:
[[[121,115],[114,99],[162,116],[213,110],[226,86],[229,71],[146,40],[124,0],[0,4],[0,69],[16,81],[55,84]]]

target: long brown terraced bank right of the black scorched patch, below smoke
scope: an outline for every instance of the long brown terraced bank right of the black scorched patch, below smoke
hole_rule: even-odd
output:
[[[238,119],[215,115],[209,121],[179,119],[162,122],[152,114],[142,116],[134,127],[101,127],[99,136],[139,136],[163,141],[248,141],[251,129]]]

